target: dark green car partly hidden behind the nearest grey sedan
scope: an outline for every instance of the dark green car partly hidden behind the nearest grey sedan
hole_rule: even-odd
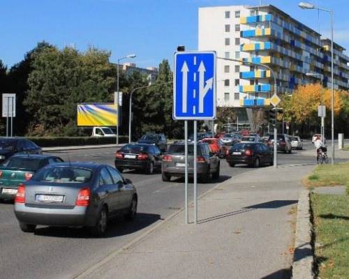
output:
[[[0,165],[0,199],[14,199],[20,183],[31,179],[39,169],[63,160],[50,155],[14,155]]]

